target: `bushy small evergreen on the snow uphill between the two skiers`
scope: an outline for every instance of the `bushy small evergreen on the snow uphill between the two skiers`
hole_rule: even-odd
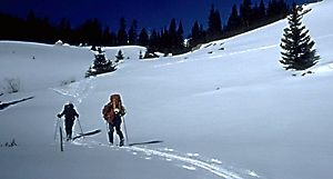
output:
[[[94,54],[93,64],[90,66],[85,72],[85,78],[117,70],[115,66],[105,58],[104,51],[102,51],[101,48],[99,48],[98,52],[99,53]]]

